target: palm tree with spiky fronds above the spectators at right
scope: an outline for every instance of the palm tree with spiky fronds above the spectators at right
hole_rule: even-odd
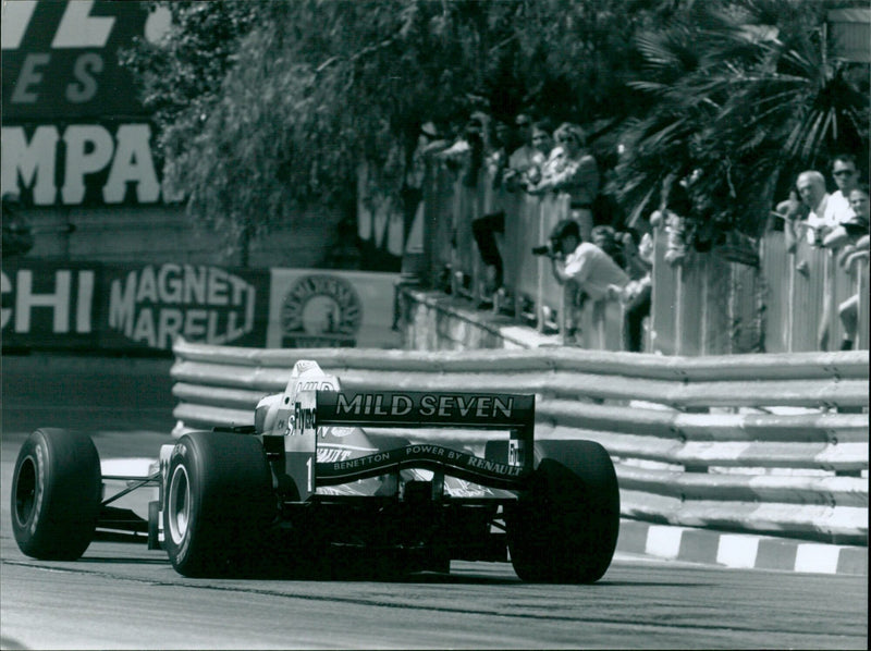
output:
[[[702,238],[757,236],[777,193],[838,151],[868,156],[869,101],[823,38],[844,2],[706,0],[667,29],[641,33],[645,73],[630,83],[652,110],[627,123],[622,198],[645,217],[671,174],[701,172],[690,194]]]

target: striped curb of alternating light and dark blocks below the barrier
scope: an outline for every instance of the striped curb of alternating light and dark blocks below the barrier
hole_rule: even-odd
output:
[[[621,520],[617,551],[721,567],[868,575],[868,548]]]

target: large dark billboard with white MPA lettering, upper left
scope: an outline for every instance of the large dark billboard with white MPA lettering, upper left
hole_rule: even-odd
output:
[[[3,193],[33,206],[162,200],[149,113],[119,52],[169,23],[143,2],[3,2]]]

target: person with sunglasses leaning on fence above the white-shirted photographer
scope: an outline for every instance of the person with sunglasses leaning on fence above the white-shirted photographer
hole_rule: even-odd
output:
[[[592,202],[599,193],[599,168],[585,149],[586,135],[576,124],[563,123],[554,138],[561,149],[551,155],[541,181],[530,187],[529,193],[567,193],[572,218],[580,224],[581,237],[589,241],[593,226]]]

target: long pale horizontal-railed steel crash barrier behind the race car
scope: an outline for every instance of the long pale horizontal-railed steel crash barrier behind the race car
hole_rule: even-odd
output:
[[[183,340],[173,351],[179,432],[250,423],[256,402],[281,391],[299,358],[316,359],[354,390],[535,392],[536,438],[602,443],[616,464],[626,517],[868,544],[868,351],[663,357]],[[466,432],[439,435],[482,442]]]

